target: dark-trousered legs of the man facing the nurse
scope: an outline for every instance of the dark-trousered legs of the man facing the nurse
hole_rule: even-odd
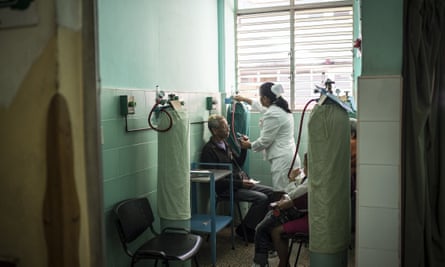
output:
[[[240,188],[235,192],[235,199],[251,203],[244,224],[249,229],[254,230],[257,224],[264,218],[269,210],[269,198],[272,196],[272,189],[267,186],[255,185],[250,189]]]

